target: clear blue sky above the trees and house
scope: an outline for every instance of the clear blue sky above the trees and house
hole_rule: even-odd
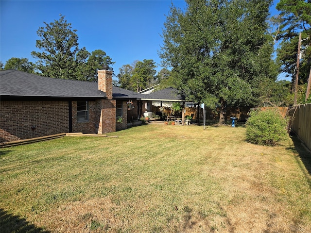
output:
[[[115,74],[143,59],[153,59],[159,71],[160,35],[172,2],[186,5],[184,0],[0,0],[0,61],[23,57],[35,62],[36,31],[62,14],[77,29],[79,48],[104,50],[116,62]]]

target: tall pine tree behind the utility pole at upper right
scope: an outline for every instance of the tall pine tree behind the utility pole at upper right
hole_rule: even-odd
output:
[[[280,0],[276,9],[280,11],[280,30],[277,39],[281,40],[277,59],[282,64],[282,72],[295,79],[298,37],[302,33],[299,81],[306,83],[311,66],[311,0]],[[309,39],[306,39],[309,38]],[[306,40],[305,40],[306,39]]]

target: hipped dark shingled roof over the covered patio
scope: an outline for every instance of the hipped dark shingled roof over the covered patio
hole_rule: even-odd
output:
[[[177,89],[169,87],[163,90],[152,92],[148,95],[143,95],[141,100],[157,100],[157,101],[186,101],[185,97],[178,94]]]

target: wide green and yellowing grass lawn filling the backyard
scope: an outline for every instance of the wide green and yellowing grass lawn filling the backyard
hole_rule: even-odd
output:
[[[108,135],[1,149],[1,233],[311,232],[311,155],[291,138],[150,124]]]

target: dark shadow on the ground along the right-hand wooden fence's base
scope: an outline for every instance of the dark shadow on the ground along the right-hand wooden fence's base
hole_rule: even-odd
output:
[[[297,137],[297,135],[295,133],[290,133],[290,136],[291,136],[293,143],[294,143],[294,152],[298,153],[296,160],[297,160],[301,170],[303,172],[306,172],[305,169],[307,169],[307,171],[309,172],[309,175],[311,175],[311,153],[310,153],[310,151],[308,151],[307,148],[305,148],[303,146],[302,142],[299,140],[299,138]],[[293,148],[288,148],[288,149],[293,150]],[[298,161],[298,158],[301,159],[304,167],[302,167],[303,165],[300,163],[300,161]],[[307,174],[305,174],[305,175],[307,175]],[[306,178],[307,178],[309,185],[311,187],[311,179],[309,178],[309,176],[306,176]]]

